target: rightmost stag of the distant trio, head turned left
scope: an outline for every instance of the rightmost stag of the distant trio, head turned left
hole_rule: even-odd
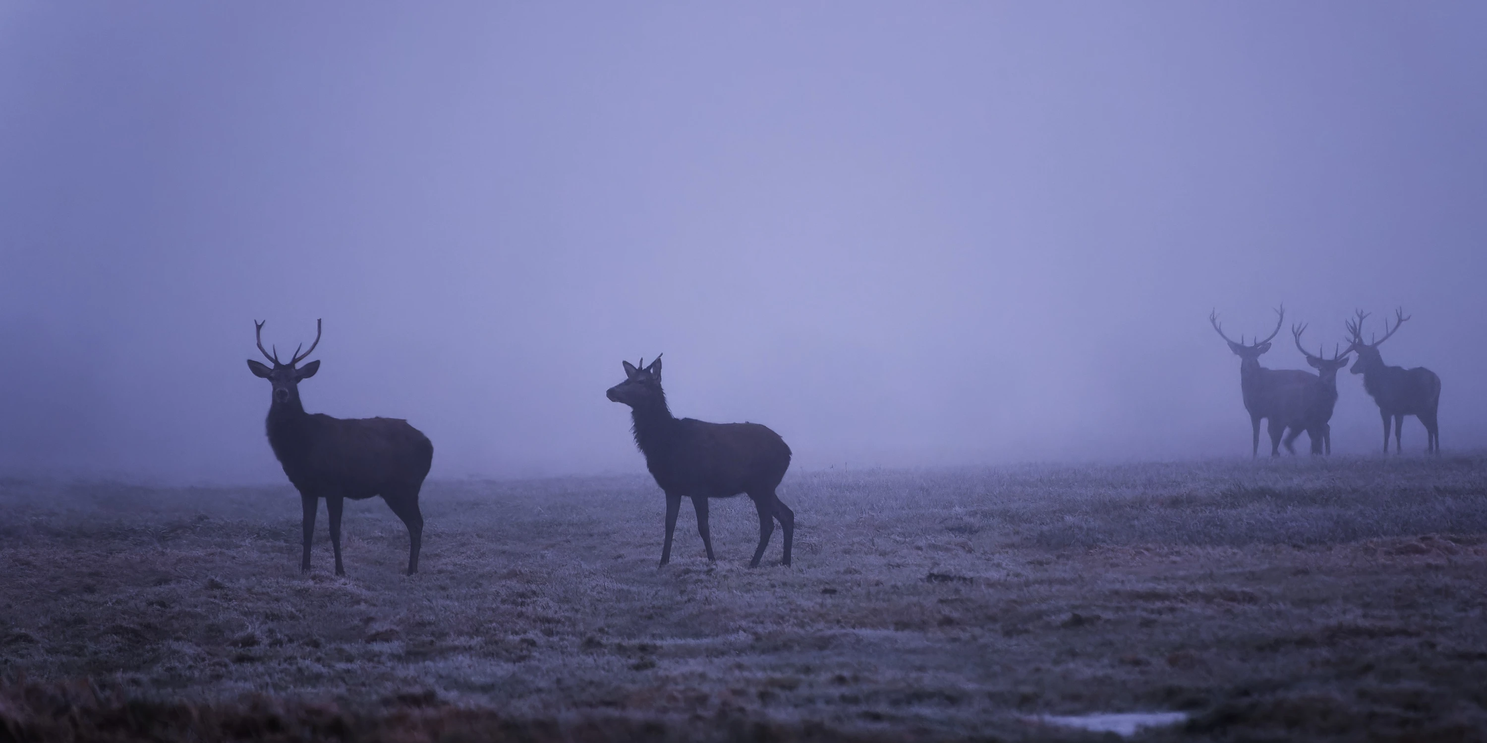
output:
[[[1384,366],[1378,355],[1378,346],[1389,340],[1389,336],[1399,330],[1404,321],[1404,308],[1395,311],[1395,327],[1389,330],[1384,321],[1384,337],[1371,336],[1373,343],[1364,343],[1364,319],[1368,312],[1358,311],[1356,319],[1349,319],[1347,351],[1358,352],[1358,361],[1352,372],[1364,374],[1364,389],[1378,403],[1378,415],[1384,419],[1384,453],[1389,453],[1389,418],[1395,422],[1395,453],[1401,450],[1399,432],[1404,428],[1404,416],[1416,416],[1425,424],[1428,434],[1426,452],[1441,453],[1441,432],[1435,413],[1441,404],[1441,377],[1425,367],[1404,369]]]

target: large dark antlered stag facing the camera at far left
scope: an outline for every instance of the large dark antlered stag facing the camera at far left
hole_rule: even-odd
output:
[[[434,444],[422,432],[396,418],[339,419],[324,413],[306,413],[299,403],[299,380],[315,376],[320,360],[294,369],[320,345],[320,321],[315,321],[315,342],[309,351],[281,364],[278,349],[263,349],[263,322],[256,327],[259,351],[274,363],[269,369],[248,360],[248,370],[274,383],[269,404],[268,434],[274,456],[284,465],[284,474],[299,490],[303,507],[305,556],[300,571],[309,571],[309,541],[315,533],[315,510],[320,498],[330,513],[330,545],[336,551],[336,575],[341,566],[341,508],[346,498],[360,501],[381,495],[388,508],[407,525],[407,574],[418,572],[418,550],[424,539],[424,514],[418,510],[418,490],[434,461]]]

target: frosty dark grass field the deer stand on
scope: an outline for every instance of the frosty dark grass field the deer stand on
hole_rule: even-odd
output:
[[[348,504],[299,574],[286,487],[0,484],[0,739],[1487,737],[1487,458],[806,473],[796,565],[751,504],[648,480]],[[247,727],[244,727],[247,725]],[[256,727],[254,727],[256,725]],[[320,725],[320,727],[317,727]]]

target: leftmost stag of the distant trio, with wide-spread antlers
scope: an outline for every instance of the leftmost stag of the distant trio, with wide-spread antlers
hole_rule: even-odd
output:
[[[1298,369],[1265,369],[1259,366],[1259,357],[1270,351],[1270,339],[1280,333],[1280,324],[1286,319],[1286,309],[1276,309],[1276,330],[1268,337],[1246,345],[1245,336],[1239,342],[1230,340],[1224,328],[1218,324],[1218,312],[1209,314],[1209,322],[1219,337],[1228,343],[1228,349],[1240,358],[1239,389],[1245,398],[1245,410],[1249,412],[1249,425],[1254,431],[1254,446],[1251,456],[1259,456],[1259,419],[1270,421],[1270,456],[1280,456],[1280,435],[1286,428],[1292,429],[1286,440],[1286,450],[1295,453],[1292,441],[1300,429],[1306,428],[1304,409],[1307,388],[1316,383],[1316,374]]]

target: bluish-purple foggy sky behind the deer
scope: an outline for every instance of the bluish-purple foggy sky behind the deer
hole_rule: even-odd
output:
[[[1474,3],[9,3],[0,470],[283,481],[244,360],[317,318],[431,477],[642,471],[659,352],[796,467],[1248,456],[1207,315],[1282,302],[1404,306],[1487,446],[1484,91]]]

